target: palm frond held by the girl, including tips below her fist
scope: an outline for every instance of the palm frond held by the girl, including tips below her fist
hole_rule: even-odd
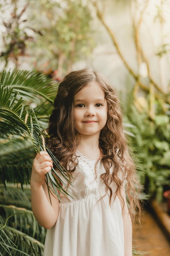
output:
[[[44,128],[40,121],[38,121],[34,110],[29,106],[24,106],[22,98],[18,100],[16,96],[17,93],[13,94],[13,88],[7,88],[4,85],[0,85],[1,137],[4,135],[6,137],[10,135],[20,135],[25,138],[30,137],[32,139],[35,151],[38,153],[39,151],[44,150],[42,137],[40,136],[44,136],[42,132]],[[65,180],[70,182],[71,175],[64,169],[48,147],[46,147],[46,151],[51,156],[55,166]],[[47,173],[46,176],[49,188],[57,195],[59,200],[60,196],[58,191],[62,191],[68,195],[68,192],[63,189],[58,181],[58,179],[60,180],[60,177],[54,168],[52,168],[52,170]]]

